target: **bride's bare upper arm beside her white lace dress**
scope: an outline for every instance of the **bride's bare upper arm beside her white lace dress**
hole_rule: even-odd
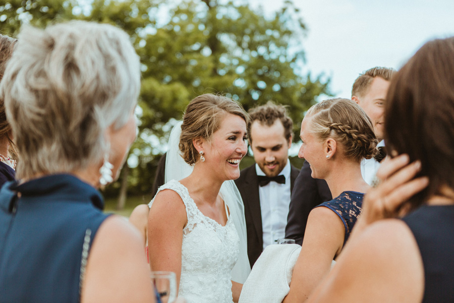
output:
[[[171,189],[159,191],[148,214],[150,268],[175,272],[177,285],[180,285],[181,249],[186,223],[186,207],[180,195]]]

